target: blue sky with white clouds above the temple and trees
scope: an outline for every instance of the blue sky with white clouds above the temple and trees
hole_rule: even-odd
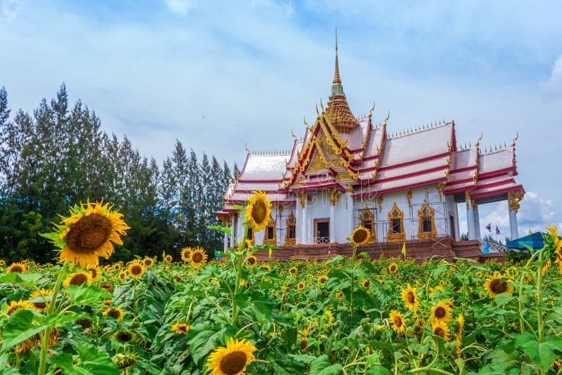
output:
[[[65,82],[147,157],[177,138],[241,165],[244,143],[287,149],[327,102],[337,28],[355,114],[376,101],[389,131],[454,119],[457,140],[483,132],[486,147],[519,133],[524,235],[562,230],[560,14],[557,1],[0,0],[0,86],[31,112]],[[481,206],[488,222],[509,235],[506,202]]]

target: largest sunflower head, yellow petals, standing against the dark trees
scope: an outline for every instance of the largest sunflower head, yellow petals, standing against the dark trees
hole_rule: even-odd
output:
[[[106,204],[85,203],[70,209],[70,216],[63,216],[55,231],[47,233],[48,238],[60,250],[60,262],[85,268],[86,265],[99,264],[98,257],[109,258],[113,254],[113,244],[122,245],[119,235],[126,235],[130,229],[122,220],[122,213],[112,211]]]

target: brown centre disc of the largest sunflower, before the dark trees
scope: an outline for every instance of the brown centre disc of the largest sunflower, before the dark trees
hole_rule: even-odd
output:
[[[79,254],[90,254],[99,249],[108,239],[112,230],[111,221],[93,213],[74,223],[66,235],[66,244]]]

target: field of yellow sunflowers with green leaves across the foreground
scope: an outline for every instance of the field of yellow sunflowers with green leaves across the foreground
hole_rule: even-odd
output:
[[[259,228],[268,207],[238,209]],[[259,262],[275,249],[244,236],[220,261],[111,263],[128,228],[81,204],[44,234],[58,264],[0,261],[0,374],[562,373],[555,227],[516,264],[371,260],[362,228],[351,258]]]

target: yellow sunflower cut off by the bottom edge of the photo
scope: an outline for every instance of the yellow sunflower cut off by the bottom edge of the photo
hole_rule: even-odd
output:
[[[256,359],[253,354],[256,350],[251,342],[231,337],[226,348],[216,348],[209,355],[209,371],[211,375],[244,374],[246,366]]]

